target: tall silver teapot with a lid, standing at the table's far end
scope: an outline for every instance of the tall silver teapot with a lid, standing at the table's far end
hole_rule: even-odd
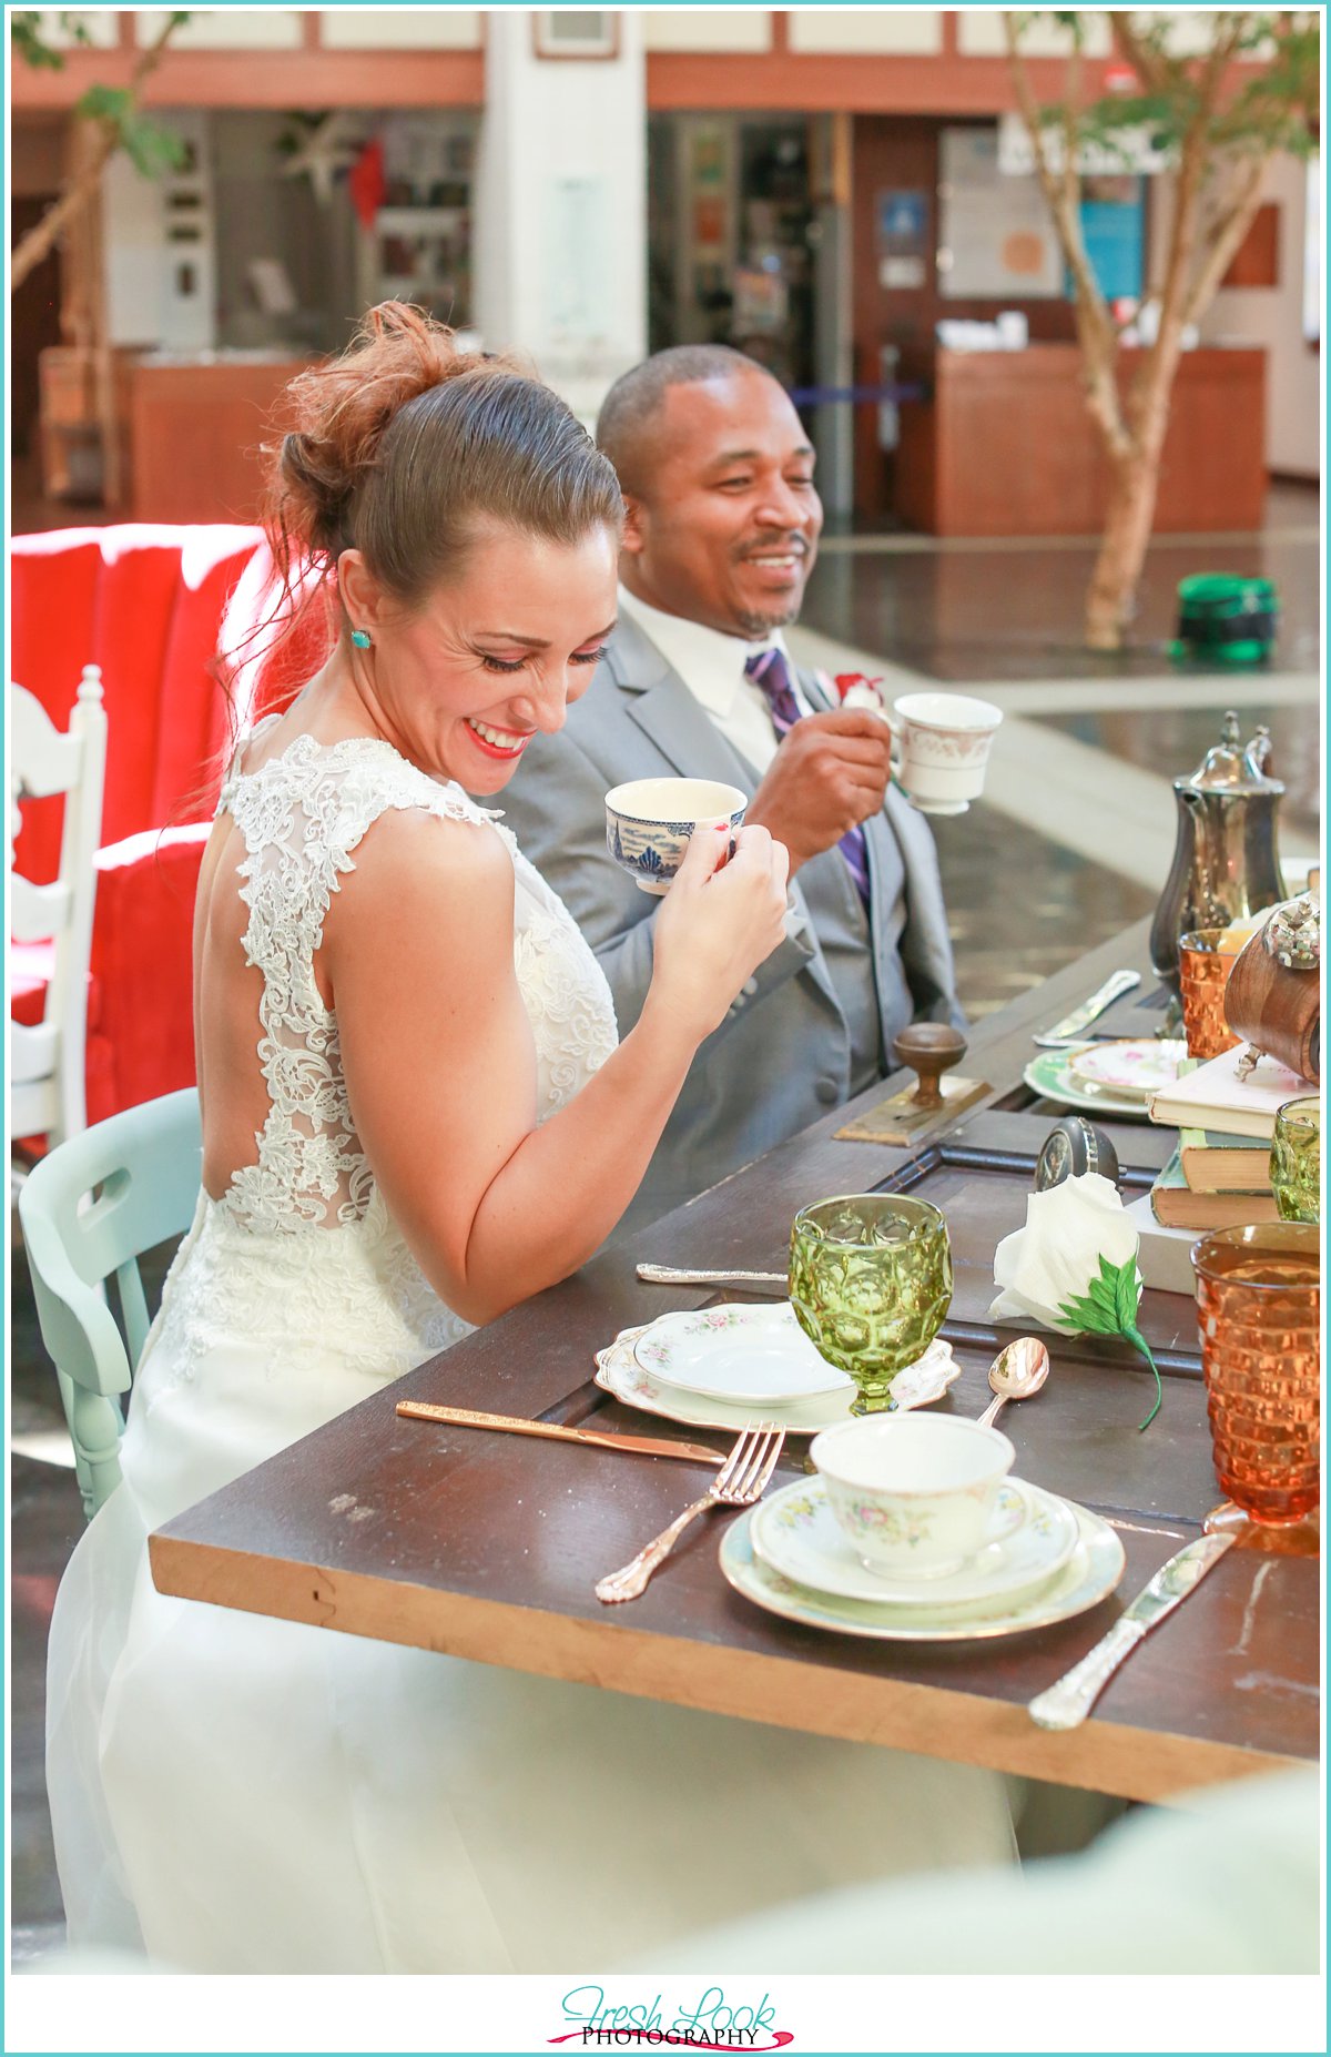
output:
[[[1259,728],[1238,743],[1238,716],[1224,716],[1214,743],[1189,778],[1175,780],[1179,841],[1150,928],[1150,961],[1164,985],[1179,991],[1179,936],[1195,928],[1226,928],[1243,915],[1286,899],[1275,845],[1275,815],[1284,786],[1267,778],[1271,734]]]

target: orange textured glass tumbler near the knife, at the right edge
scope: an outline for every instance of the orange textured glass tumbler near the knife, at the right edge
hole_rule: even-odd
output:
[[[1193,1271],[1216,1477],[1251,1522],[1300,1522],[1321,1500],[1319,1230],[1222,1228]]]

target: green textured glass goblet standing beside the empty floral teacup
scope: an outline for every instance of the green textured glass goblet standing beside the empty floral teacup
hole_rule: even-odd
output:
[[[950,1300],[948,1224],[928,1199],[850,1193],[796,1214],[790,1302],[819,1356],[854,1378],[852,1413],[895,1405],[893,1378],[930,1347]]]

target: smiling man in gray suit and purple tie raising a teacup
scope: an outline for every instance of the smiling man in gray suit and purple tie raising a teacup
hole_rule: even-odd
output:
[[[934,839],[889,786],[889,730],[837,706],[782,640],[823,527],[786,393],[734,350],[662,350],[611,387],[597,442],[627,506],[619,627],[566,728],[527,747],[506,821],[592,944],[621,1035],[658,903],[607,856],[611,786],[741,786],[792,870],[786,940],[699,1051],[627,1216],[640,1224],[872,1086],[909,1020],[959,1010]]]

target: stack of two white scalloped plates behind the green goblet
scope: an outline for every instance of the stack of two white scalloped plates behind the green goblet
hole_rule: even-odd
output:
[[[950,1343],[930,1343],[897,1374],[897,1405],[942,1399],[959,1370]],[[817,1436],[846,1421],[856,1397],[846,1372],[817,1354],[788,1300],[660,1314],[644,1329],[625,1329],[597,1354],[597,1384],[669,1421],[734,1434],[761,1419],[790,1436]]]

